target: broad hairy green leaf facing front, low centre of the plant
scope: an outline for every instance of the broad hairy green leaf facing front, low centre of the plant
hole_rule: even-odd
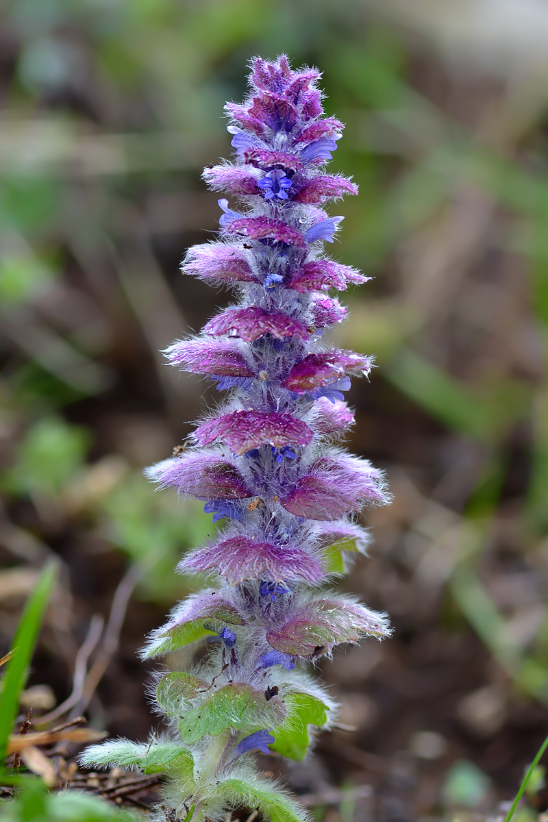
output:
[[[187,745],[209,734],[216,737],[227,727],[252,731],[274,727],[285,716],[282,700],[266,700],[262,690],[238,683],[225,685],[191,709],[179,721],[179,730]]]

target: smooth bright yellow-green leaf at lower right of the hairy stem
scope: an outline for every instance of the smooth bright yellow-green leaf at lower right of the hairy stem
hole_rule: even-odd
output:
[[[270,750],[301,762],[311,744],[308,727],[324,727],[329,708],[310,694],[292,694],[284,702],[288,716],[281,725],[274,727],[276,741],[270,746]]]

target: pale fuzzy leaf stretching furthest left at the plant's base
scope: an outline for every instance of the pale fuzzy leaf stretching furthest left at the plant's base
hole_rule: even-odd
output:
[[[113,739],[101,745],[91,745],[81,756],[85,765],[118,765],[127,768],[136,765],[145,774],[167,771],[192,778],[194,759],[191,751],[176,742],[131,742],[128,739]]]

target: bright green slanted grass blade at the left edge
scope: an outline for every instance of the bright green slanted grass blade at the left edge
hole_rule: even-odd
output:
[[[27,669],[35,650],[44,610],[57,576],[57,564],[44,568],[35,590],[26,603],[25,612],[12,642],[12,657],[7,663],[6,675],[0,695],[0,770],[4,768],[7,741],[12,732],[19,707],[19,695],[25,687]]]

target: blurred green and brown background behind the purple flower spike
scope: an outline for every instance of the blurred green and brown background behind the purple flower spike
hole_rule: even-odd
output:
[[[288,53],[320,67],[347,124],[332,168],[360,196],[331,210],[333,255],[375,279],[333,339],[377,357],[350,446],[394,492],[344,584],[396,635],[325,667],[358,730],[320,743],[321,779],[373,783],[375,819],[390,801],[397,819],[492,809],[548,719],[548,7],[4,0],[0,19],[2,644],[60,556],[44,711],[117,592],[106,673],[72,707],[145,734],[135,649],[211,530],[141,477],[215,399],[159,349],[228,301],[178,271],[217,225],[200,173],[228,156],[223,104],[249,58]]]

